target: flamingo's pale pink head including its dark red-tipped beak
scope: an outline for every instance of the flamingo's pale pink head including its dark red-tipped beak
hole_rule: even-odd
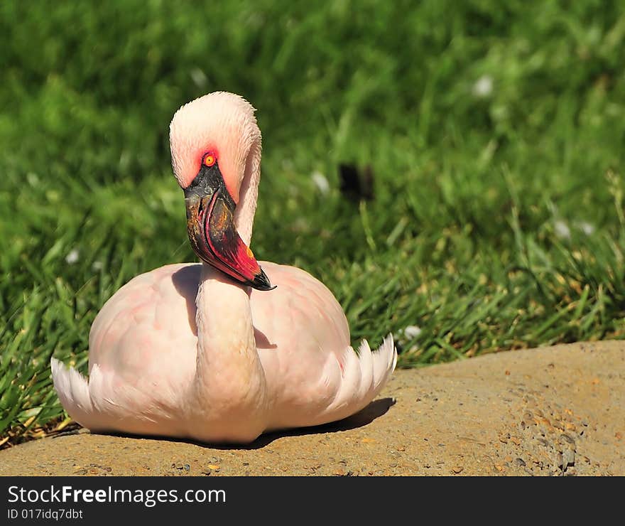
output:
[[[261,159],[254,108],[238,95],[210,93],[178,109],[169,139],[197,257],[241,284],[273,289],[235,225],[237,207],[244,199],[247,214],[238,218],[246,222],[246,237],[251,235],[257,188],[250,180],[258,182]]]

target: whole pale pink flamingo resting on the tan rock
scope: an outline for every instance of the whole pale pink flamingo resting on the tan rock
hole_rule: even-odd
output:
[[[89,333],[89,378],[51,360],[54,387],[96,433],[249,443],[366,407],[395,369],[392,335],[356,353],[329,289],[249,249],[260,180],[256,110],[214,92],[170,124],[175,178],[201,262],[140,274]]]

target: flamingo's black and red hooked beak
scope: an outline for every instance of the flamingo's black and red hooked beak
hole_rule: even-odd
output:
[[[214,169],[213,169],[214,168]],[[187,232],[197,257],[241,284],[275,289],[234,225],[232,200],[217,164],[203,166],[185,190]]]

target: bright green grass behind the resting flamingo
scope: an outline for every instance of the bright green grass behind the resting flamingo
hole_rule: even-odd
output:
[[[168,124],[213,90],[259,109],[254,252],[322,279],[354,343],[393,332],[406,367],[624,337],[619,3],[74,4],[0,4],[0,444],[63,421],[50,357],[85,370],[121,284],[194,260]]]

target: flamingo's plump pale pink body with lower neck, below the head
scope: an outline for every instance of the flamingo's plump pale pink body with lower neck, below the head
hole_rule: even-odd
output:
[[[249,442],[369,404],[396,365],[391,336],[357,354],[325,285],[295,267],[260,266],[276,289],[250,289],[207,263],[131,279],[92,325],[89,380],[52,360],[63,407],[92,431]]]

